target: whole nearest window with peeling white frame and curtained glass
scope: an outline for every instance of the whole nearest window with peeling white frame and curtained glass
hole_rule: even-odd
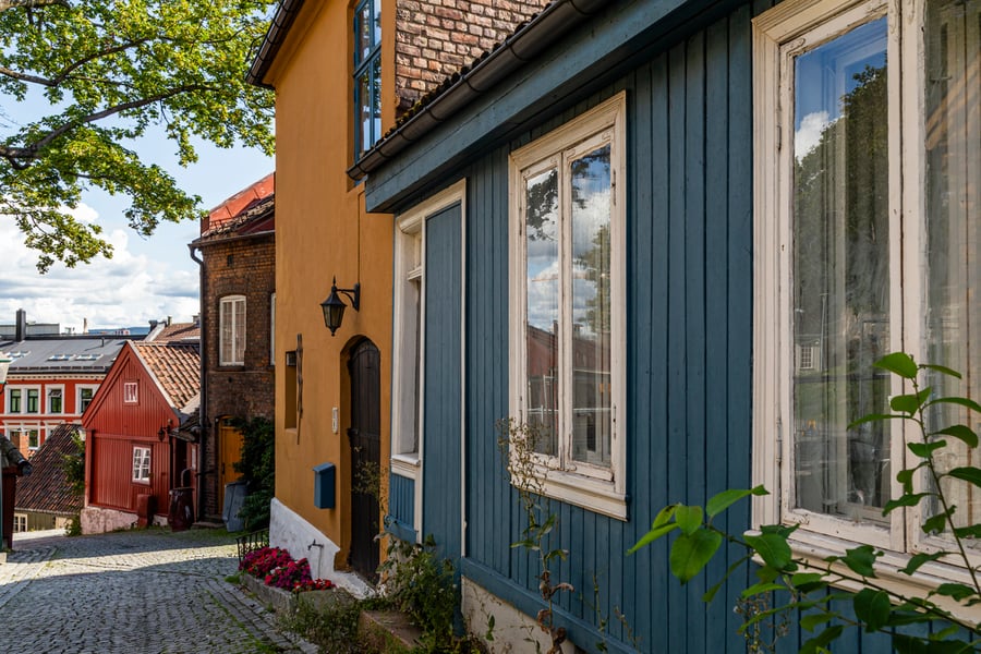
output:
[[[906,425],[847,425],[903,392],[872,367],[891,351],[965,373],[944,392],[981,395],[979,37],[981,5],[956,0],[790,0],[755,21],[766,274],[754,280],[754,476],[780,491],[755,516],[801,524],[801,541],[904,554],[940,543],[906,529],[920,507],[882,516],[899,494]],[[943,419],[967,420],[953,404]],[[945,464],[977,465],[977,453]],[[955,504],[981,520],[967,495]]]

